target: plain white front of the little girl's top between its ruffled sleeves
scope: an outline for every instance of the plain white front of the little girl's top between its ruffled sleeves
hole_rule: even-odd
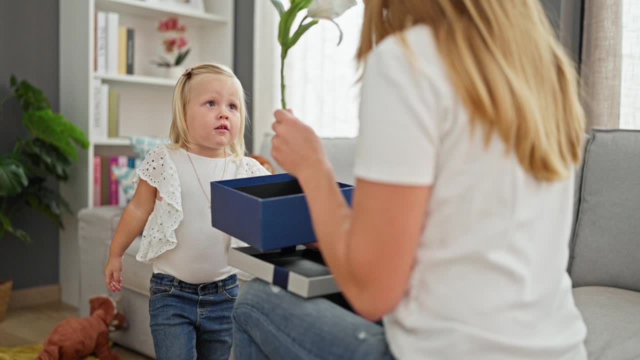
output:
[[[172,275],[191,284],[218,281],[235,274],[236,269],[227,264],[231,236],[211,226],[208,199],[211,199],[211,181],[220,181],[223,172],[224,179],[233,179],[238,172],[238,162],[234,161],[234,156],[229,156],[225,170],[224,158],[212,159],[189,153],[207,193],[205,197],[187,152],[182,148],[167,149],[167,152],[180,179],[184,218],[175,229],[177,244],[157,257],[154,272]]]

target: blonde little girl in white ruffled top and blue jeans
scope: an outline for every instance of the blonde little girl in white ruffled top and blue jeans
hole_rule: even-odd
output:
[[[124,210],[104,269],[122,289],[122,256],[143,230],[136,258],[152,263],[149,314],[156,359],[225,359],[231,348],[235,239],[211,227],[209,183],[268,175],[244,157],[244,91],[230,69],[187,69],[173,92],[170,145],[153,149],[136,170],[136,193]],[[146,224],[146,225],[145,225]]]

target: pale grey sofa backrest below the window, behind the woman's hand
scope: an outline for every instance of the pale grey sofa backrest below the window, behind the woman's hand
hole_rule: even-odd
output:
[[[260,155],[271,162],[276,173],[281,173],[282,168],[271,158],[271,138],[273,134],[264,135]],[[324,151],[333,167],[335,178],[340,183],[355,184],[353,177],[353,161],[355,159],[356,139],[355,138],[321,138]]]

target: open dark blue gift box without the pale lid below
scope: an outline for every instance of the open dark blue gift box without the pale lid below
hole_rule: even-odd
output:
[[[337,186],[351,204],[353,186]],[[211,225],[262,251],[316,241],[307,199],[290,174],[213,181]]]

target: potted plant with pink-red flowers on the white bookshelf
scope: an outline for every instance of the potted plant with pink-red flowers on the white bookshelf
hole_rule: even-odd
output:
[[[154,60],[156,74],[170,79],[177,79],[184,72],[184,60],[189,55],[191,49],[187,47],[188,42],[184,36],[187,27],[180,25],[177,17],[170,17],[158,23],[157,31],[163,33],[162,47],[164,55],[160,55],[158,60]]]

